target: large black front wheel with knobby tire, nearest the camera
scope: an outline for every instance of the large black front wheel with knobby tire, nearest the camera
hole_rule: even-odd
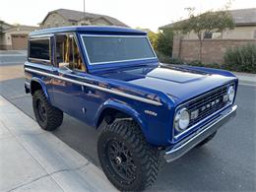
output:
[[[109,181],[121,191],[151,186],[160,171],[160,151],[148,144],[132,120],[119,120],[99,133],[97,155]]]

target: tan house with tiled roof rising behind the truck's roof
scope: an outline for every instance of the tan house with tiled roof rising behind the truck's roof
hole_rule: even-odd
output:
[[[120,26],[128,27],[124,23],[118,21],[115,18],[84,13],[80,11],[58,9],[49,12],[43,21],[39,24],[40,29],[56,28],[61,26]]]

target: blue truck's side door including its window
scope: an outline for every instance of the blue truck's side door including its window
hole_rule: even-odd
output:
[[[76,36],[59,33],[55,39],[55,65],[52,82],[54,102],[64,112],[79,119],[85,113],[83,75],[86,67],[82,61]]]

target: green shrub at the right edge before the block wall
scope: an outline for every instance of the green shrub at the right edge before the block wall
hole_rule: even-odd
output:
[[[256,73],[256,44],[227,49],[224,53],[224,69]]]

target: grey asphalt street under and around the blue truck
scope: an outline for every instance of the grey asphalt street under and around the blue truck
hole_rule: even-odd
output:
[[[22,70],[22,65],[0,66],[0,95],[34,118]],[[255,100],[256,87],[241,85],[236,118],[205,147],[164,164],[158,182],[149,191],[256,191]],[[63,125],[52,133],[98,166],[94,128],[65,115]]]

